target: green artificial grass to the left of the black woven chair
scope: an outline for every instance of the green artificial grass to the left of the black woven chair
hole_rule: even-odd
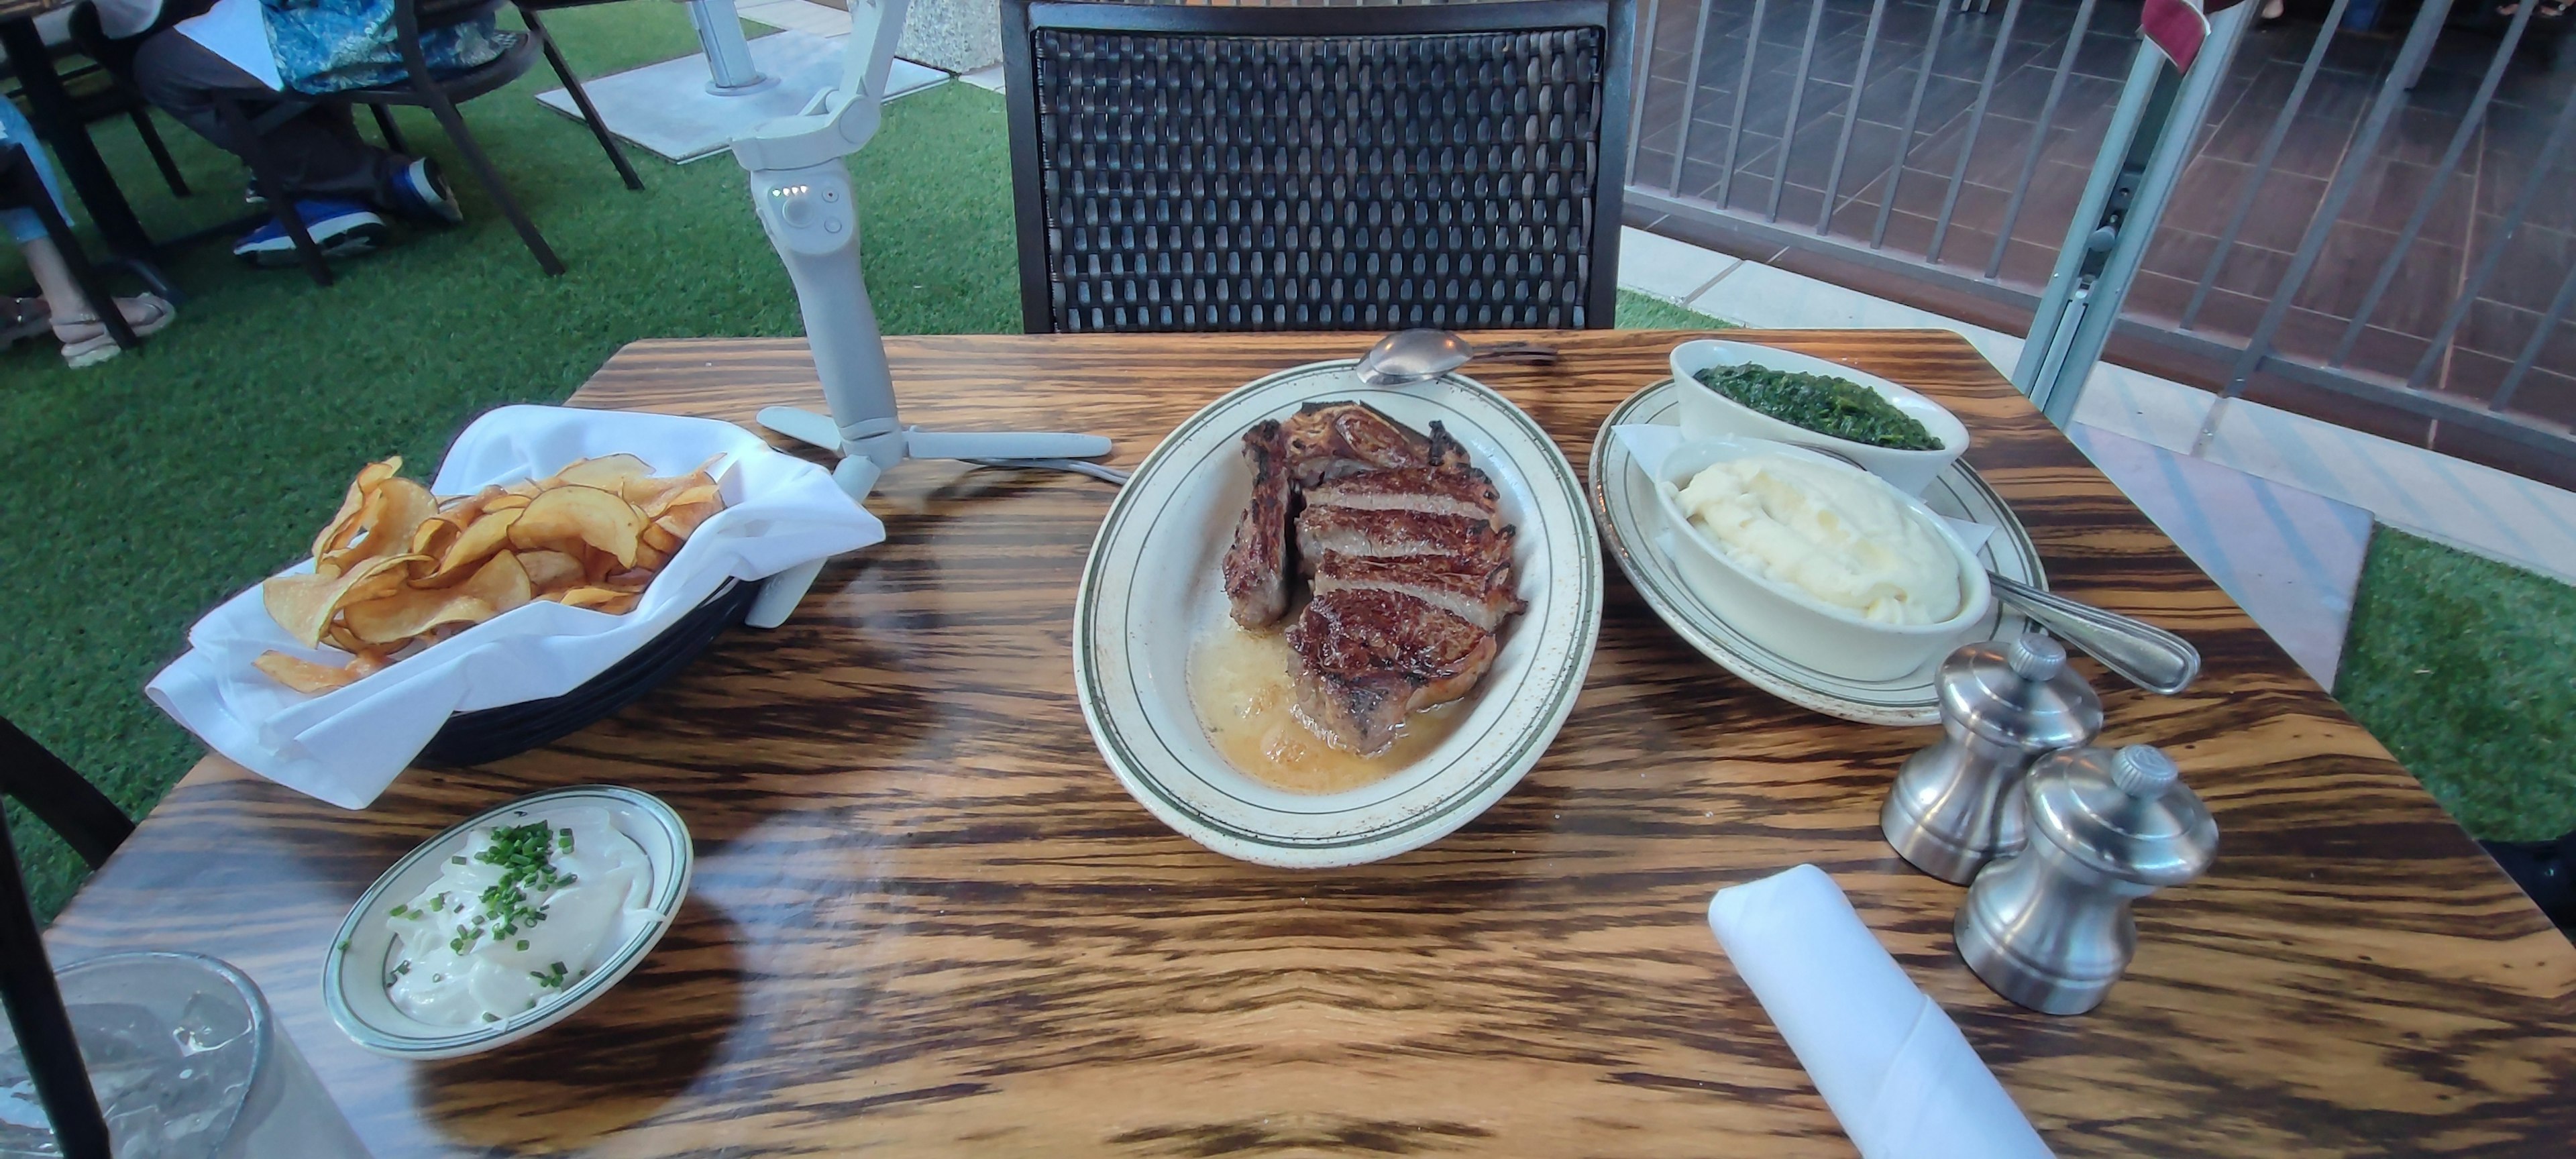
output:
[[[677,5],[564,10],[549,26],[582,75],[696,52]],[[677,335],[796,335],[796,296],[752,219],[729,157],[629,157],[629,193],[582,124],[533,100],[546,70],[466,106],[546,240],[546,278],[425,116],[415,149],[440,157],[469,224],[410,232],[337,265],[247,270],[209,242],[170,276],[178,322],[106,366],[67,371],[49,340],[0,353],[0,713],[134,814],[201,755],[142,685],[185,649],[206,608],[296,559],[348,476],[402,453],[438,464],[474,415],[559,402],[618,345]],[[242,167],[162,121],[198,196],[155,178],[131,126],[100,147],[157,234],[245,211]],[[868,281],[891,332],[1018,330],[1002,100],[940,85],[886,108],[853,165]],[[0,286],[23,286],[0,247]],[[41,914],[80,878],[41,824],[10,811]]]

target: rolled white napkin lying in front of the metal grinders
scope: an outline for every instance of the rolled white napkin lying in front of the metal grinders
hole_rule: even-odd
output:
[[[2050,1154],[1821,868],[1721,889],[1708,927],[1862,1159]]]

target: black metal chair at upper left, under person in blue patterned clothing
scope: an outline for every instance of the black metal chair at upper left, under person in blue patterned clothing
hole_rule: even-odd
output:
[[[528,31],[500,33],[502,52],[500,57],[492,57],[492,62],[464,72],[430,72],[428,59],[420,54],[422,28],[446,28],[451,23],[474,21],[500,10],[502,3],[505,0],[397,0],[394,46],[402,52],[404,80],[394,85],[353,88],[345,93],[296,93],[286,100],[278,100],[278,95],[265,88],[216,93],[216,111],[234,126],[237,134],[258,142],[265,129],[283,124],[307,108],[368,106],[376,113],[376,126],[384,131],[384,144],[394,152],[410,152],[402,142],[402,131],[394,129],[394,118],[386,113],[386,106],[428,108],[430,116],[438,118],[438,126],[448,131],[448,139],[456,142],[456,152],[464,155],[466,167],[474,170],[484,193],[492,196],[502,216],[510,219],[510,227],[518,229],[518,240],[528,245],[531,255],[536,255],[536,265],[549,276],[564,273],[564,260],[556,258],[554,247],[546,245],[546,237],[536,232],[536,221],[528,221],[528,211],[518,206],[515,196],[510,196],[510,185],[502,183],[492,157],[474,142],[474,131],[466,129],[466,118],[456,111],[456,106],[526,77],[528,70],[536,67],[536,57],[544,54],[554,67],[554,75],[564,82],[564,90],[572,93],[574,108],[582,111],[582,121],[590,124],[590,134],[598,137],[600,149],[608,152],[608,162],[616,165],[626,188],[644,188],[644,178],[636,178],[634,165],[626,165],[626,152],[618,149],[618,139],[608,134],[605,124],[600,124],[600,111],[590,106],[590,93],[582,90],[582,80],[564,64],[564,57],[554,49],[554,39],[546,36],[546,26],[533,10],[520,8]],[[278,188],[278,183],[265,173],[265,162],[260,160],[260,149],[255,144],[250,149],[250,173],[260,188]],[[304,270],[312,273],[314,283],[330,286],[330,263],[322,260],[322,250],[304,229],[304,219],[294,214],[291,201],[294,198],[268,198],[268,209],[278,227],[294,237],[296,255],[304,258]]]

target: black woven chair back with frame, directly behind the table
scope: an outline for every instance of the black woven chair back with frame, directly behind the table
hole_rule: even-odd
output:
[[[1633,0],[1005,0],[1023,322],[1610,327],[1633,52]]]

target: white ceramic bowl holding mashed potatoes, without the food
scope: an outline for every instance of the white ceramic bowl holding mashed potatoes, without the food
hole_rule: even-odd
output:
[[[1958,616],[1935,623],[1868,621],[1850,608],[1837,608],[1806,595],[1803,590],[1772,582],[1718,549],[1718,543],[1692,525],[1687,513],[1682,513],[1677,495],[1680,487],[1690,484],[1690,476],[1713,464],[1767,453],[1806,458],[1834,471],[1847,471],[1870,487],[1886,487],[1893,500],[1904,502],[1906,510],[1932,528],[1932,533],[1950,549],[1960,572],[1958,587],[1963,600]],[[1664,515],[1664,536],[1659,536],[1659,541],[1672,556],[1672,564],[1682,572],[1682,580],[1687,580],[1731,628],[1741,631],[1754,644],[1826,675],[1847,680],[1888,680],[1914,672],[1924,662],[1945,657],[1950,649],[1963,644],[1968,634],[1986,621],[1986,610],[1994,603],[1994,590],[1986,585],[1986,567],[1976,561],[1968,546],[1960,543],[1958,533],[1953,533],[1940,515],[1932,513],[1932,507],[1924,507],[1922,500],[1899,492],[1886,479],[1808,448],[1767,443],[1759,438],[1690,440],[1672,448],[1672,453],[1667,453],[1654,469],[1654,497],[1656,510]]]

